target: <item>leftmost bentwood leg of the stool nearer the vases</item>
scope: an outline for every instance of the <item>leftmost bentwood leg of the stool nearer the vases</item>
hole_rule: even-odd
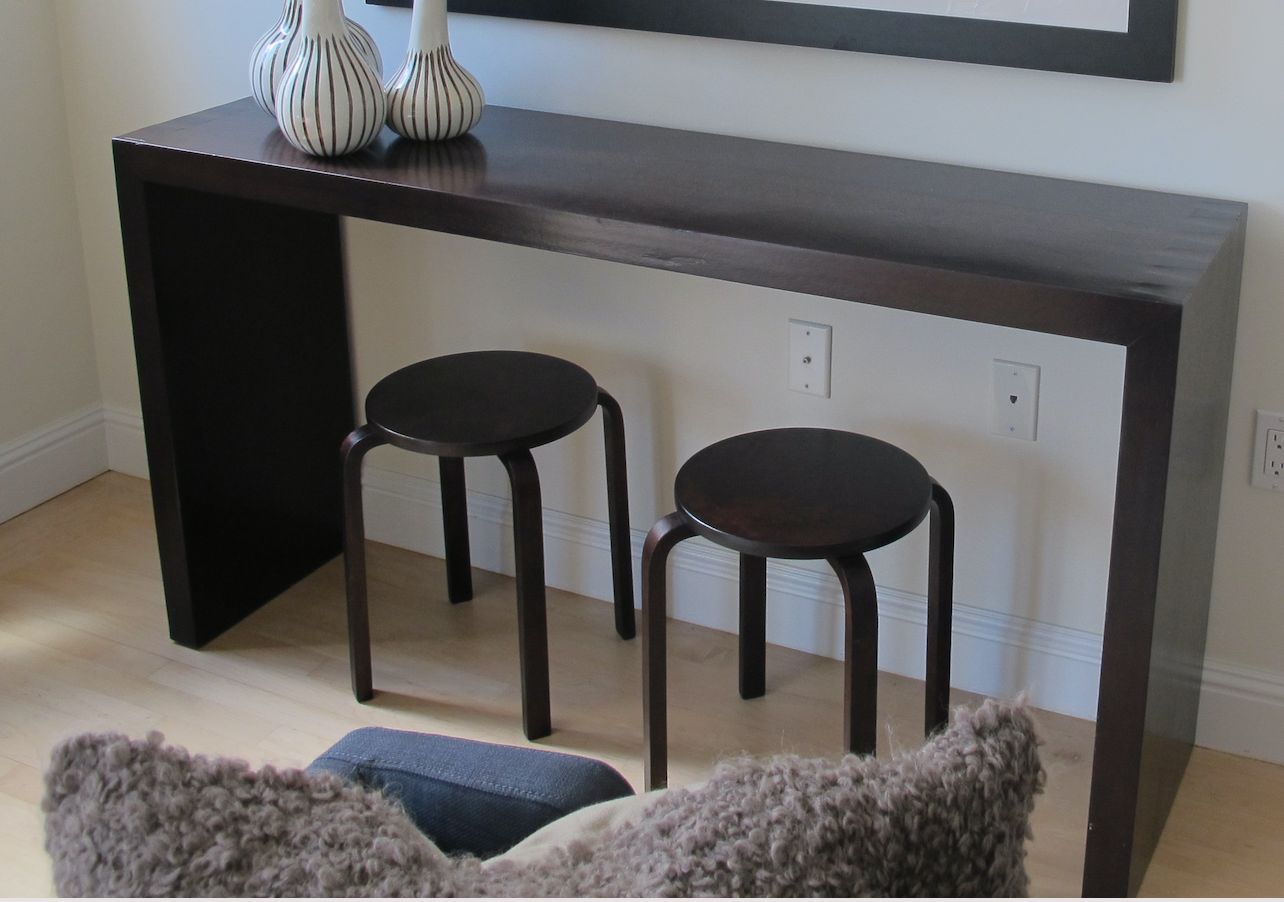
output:
[[[358,702],[375,695],[370,671],[370,610],[366,601],[366,524],[361,504],[361,461],[384,445],[369,425],[343,441],[343,565],[348,590],[348,662],[352,694]]]

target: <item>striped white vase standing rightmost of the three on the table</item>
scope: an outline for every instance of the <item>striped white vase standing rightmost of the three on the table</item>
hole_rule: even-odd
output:
[[[410,48],[386,91],[389,127],[415,141],[458,137],[482,121],[485,95],[451,54],[446,0],[415,0]]]

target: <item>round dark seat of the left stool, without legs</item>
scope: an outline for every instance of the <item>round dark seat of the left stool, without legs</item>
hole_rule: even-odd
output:
[[[366,396],[366,420],[383,438],[443,457],[539,447],[596,410],[597,382],[587,370],[529,351],[433,357],[389,374]]]

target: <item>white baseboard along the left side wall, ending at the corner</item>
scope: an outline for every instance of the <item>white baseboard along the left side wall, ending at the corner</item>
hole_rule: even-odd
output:
[[[108,469],[103,406],[0,445],[0,523]]]

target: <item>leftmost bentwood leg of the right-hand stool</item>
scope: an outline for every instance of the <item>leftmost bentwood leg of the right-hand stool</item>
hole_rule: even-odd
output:
[[[673,546],[695,535],[686,519],[673,513],[651,527],[642,547],[642,745],[647,791],[669,785],[666,564]]]

